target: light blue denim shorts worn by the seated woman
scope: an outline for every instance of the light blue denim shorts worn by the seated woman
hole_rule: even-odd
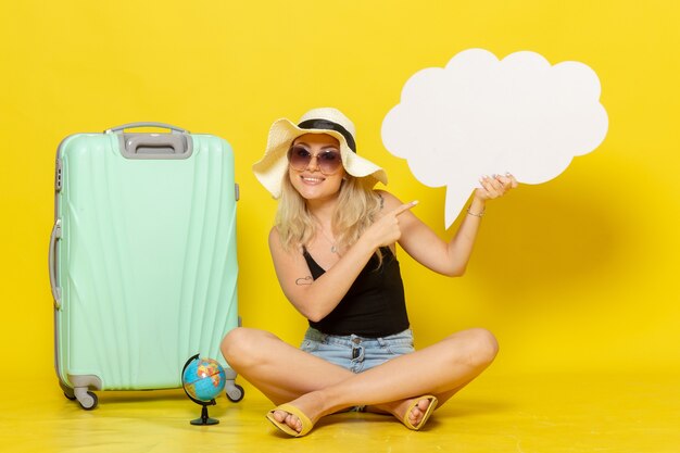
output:
[[[326,335],[312,327],[304,335],[300,349],[353,373],[365,372],[415,351],[411,329],[383,338],[364,338]]]

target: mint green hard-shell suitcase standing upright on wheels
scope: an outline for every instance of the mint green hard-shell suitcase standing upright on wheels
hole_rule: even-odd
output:
[[[129,133],[137,127],[169,133]],[[50,281],[55,368],[84,408],[92,390],[181,387],[188,357],[218,360],[238,320],[234,153],[161,123],[66,137],[56,153]]]

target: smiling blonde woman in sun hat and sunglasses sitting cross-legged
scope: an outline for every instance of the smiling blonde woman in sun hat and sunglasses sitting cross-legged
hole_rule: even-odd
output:
[[[237,328],[222,352],[275,404],[267,418],[300,437],[323,416],[348,408],[394,415],[407,428],[493,361],[487,330],[459,331],[419,351],[404,301],[395,243],[424,266],[463,275],[486,202],[517,181],[483,177],[457,234],[445,242],[394,196],[374,190],[385,171],[356,153],[354,125],[335,109],[299,124],[279,119],[253,169],[280,199],[269,249],[288,300],[308,319],[301,349],[272,334]]]

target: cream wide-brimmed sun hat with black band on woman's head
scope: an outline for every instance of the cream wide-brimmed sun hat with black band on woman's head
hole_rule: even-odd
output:
[[[281,180],[288,172],[288,149],[295,138],[305,134],[335,137],[340,142],[340,156],[347,173],[372,178],[374,185],[378,181],[387,185],[385,171],[356,154],[354,124],[337,109],[313,109],[302,115],[298,125],[286,118],[275,121],[269,128],[264,156],[253,165],[255,176],[274,198],[281,196]]]

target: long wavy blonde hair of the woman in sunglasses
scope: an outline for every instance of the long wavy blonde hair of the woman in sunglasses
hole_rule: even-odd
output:
[[[350,174],[340,186],[338,205],[331,219],[331,228],[339,250],[354,244],[376,219],[382,207],[381,197],[373,190],[366,178]],[[304,199],[290,183],[288,172],[281,184],[281,198],[276,212],[275,225],[284,250],[302,249],[316,235],[317,221],[308,212]],[[382,254],[378,250],[378,259]]]

